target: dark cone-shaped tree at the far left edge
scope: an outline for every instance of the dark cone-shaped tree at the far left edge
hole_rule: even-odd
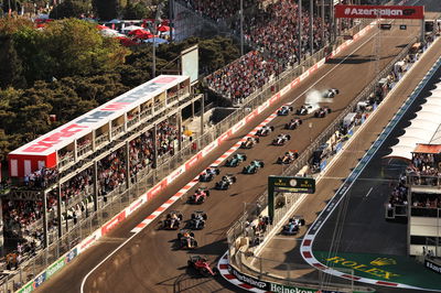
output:
[[[22,62],[10,35],[0,36],[0,88],[25,86]]]

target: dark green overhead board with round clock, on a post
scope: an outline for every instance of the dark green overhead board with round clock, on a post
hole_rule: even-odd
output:
[[[275,217],[275,193],[315,193],[315,180],[292,176],[268,176],[268,216]]]

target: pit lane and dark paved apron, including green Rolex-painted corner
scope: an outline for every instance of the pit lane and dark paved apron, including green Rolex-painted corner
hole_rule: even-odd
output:
[[[372,149],[367,152],[370,156],[364,156],[366,150],[381,133],[384,126],[394,118],[400,106],[410,99],[408,97],[418,83],[423,79],[420,83],[421,87],[426,83],[427,86],[422,88],[421,94],[415,91],[412,98],[421,97],[428,88],[431,88],[433,80],[439,80],[440,48],[441,40],[437,40],[356,132],[345,146],[345,151],[341,152],[342,156],[334,161],[334,165],[329,166],[318,182],[316,194],[305,198],[294,211],[297,215],[306,215],[306,223],[311,225],[301,229],[294,237],[277,235],[268,242],[259,257],[275,261],[265,267],[272,275],[287,275],[283,272],[284,267],[281,265],[283,262],[291,263],[291,268],[295,269],[294,263],[304,263],[305,260],[312,267],[338,276],[337,279],[327,276],[324,281],[345,278],[383,285],[375,286],[379,292],[399,292],[405,287],[409,289],[408,292],[441,289],[439,275],[406,257],[407,225],[385,220],[385,202],[391,191],[389,184],[406,166],[387,166],[381,158],[388,153],[389,146],[395,144],[397,133],[402,133],[402,129],[408,126],[407,121],[412,117],[415,109],[418,109],[418,102],[423,101],[417,99],[418,101],[406,111],[394,131],[388,137],[381,134],[381,138],[387,137],[387,139],[375,142],[374,145],[381,145],[375,155]],[[432,78],[424,77],[428,72],[435,74]],[[362,163],[357,165],[362,158],[364,158],[362,163],[366,166],[363,173],[356,173],[362,171]],[[354,172],[351,173],[354,167]],[[341,186],[348,176],[355,177],[354,174],[358,178],[351,187],[346,183]],[[315,215],[320,213],[322,214],[315,220]],[[277,260],[280,261],[280,265],[275,264]],[[346,273],[341,272],[343,270]],[[301,279],[305,274],[319,276],[311,269],[298,274],[292,273],[291,278]]]

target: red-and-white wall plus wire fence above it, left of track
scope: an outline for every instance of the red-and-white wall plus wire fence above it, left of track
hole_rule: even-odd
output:
[[[32,291],[40,286],[47,280],[46,270],[44,269],[49,263],[54,263],[60,259],[64,259],[64,263],[66,264],[77,254],[89,248],[97,239],[115,228],[116,225],[126,219],[144,203],[155,197],[160,191],[170,185],[181,174],[192,169],[197,162],[216,149],[220,143],[237,133],[255,117],[278,102],[286,93],[297,87],[301,80],[323,66],[325,58],[332,57],[355,40],[363,36],[367,32],[367,28],[368,26],[361,30],[359,33],[354,36],[354,40],[342,43],[329,55],[324,55],[324,52],[318,52],[315,57],[311,57],[302,63],[304,67],[308,65],[311,67],[291,82],[288,80],[288,78],[283,82],[280,80],[277,90],[280,89],[283,84],[286,84],[286,86],[281,88],[279,93],[273,94],[273,91],[267,91],[263,95],[258,95],[254,99],[247,100],[243,107],[232,112],[218,124],[213,126],[209,131],[195,138],[193,140],[194,144],[192,143],[183,148],[182,151],[176,152],[169,160],[164,161],[162,165],[151,170],[151,172],[144,174],[144,176],[137,176],[136,183],[132,184],[129,189],[119,191],[120,195],[112,197],[110,203],[107,202],[103,209],[90,213],[89,218],[80,220],[79,225],[76,225],[66,235],[51,243],[46,249],[40,251],[31,260],[22,263],[18,273],[8,278],[6,282],[0,285],[0,290],[15,290],[25,283],[20,292],[30,292],[29,290]],[[325,57],[319,61],[319,56]],[[314,59],[319,62],[313,64],[312,61]],[[196,145],[196,148],[194,148],[194,145]],[[115,192],[118,193],[118,191]],[[265,198],[261,204],[266,204]],[[64,265],[60,264],[56,268],[62,269]],[[52,270],[50,275],[52,276],[53,273],[54,271]]]

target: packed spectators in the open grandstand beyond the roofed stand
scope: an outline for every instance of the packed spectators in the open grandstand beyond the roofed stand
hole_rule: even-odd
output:
[[[229,9],[218,6],[218,1],[190,2],[205,3],[197,10],[200,13],[211,15],[217,8],[220,12],[217,11],[216,15],[232,17],[234,14]],[[206,78],[208,87],[230,98],[234,104],[240,102],[262,85],[277,78],[288,67],[294,66],[300,53],[305,55],[308,52],[321,48],[331,36],[330,22],[325,21],[325,26],[322,28],[322,19],[314,15],[313,47],[311,47],[309,12],[303,10],[300,20],[298,1],[294,0],[267,1],[265,7],[260,4],[252,10],[252,13],[244,13],[244,37],[249,45],[255,47],[255,51],[243,55]],[[303,28],[301,40],[298,32],[300,21]],[[237,33],[237,28],[240,28],[238,18],[232,22],[232,28]],[[324,40],[322,40],[322,30],[324,30]]]

